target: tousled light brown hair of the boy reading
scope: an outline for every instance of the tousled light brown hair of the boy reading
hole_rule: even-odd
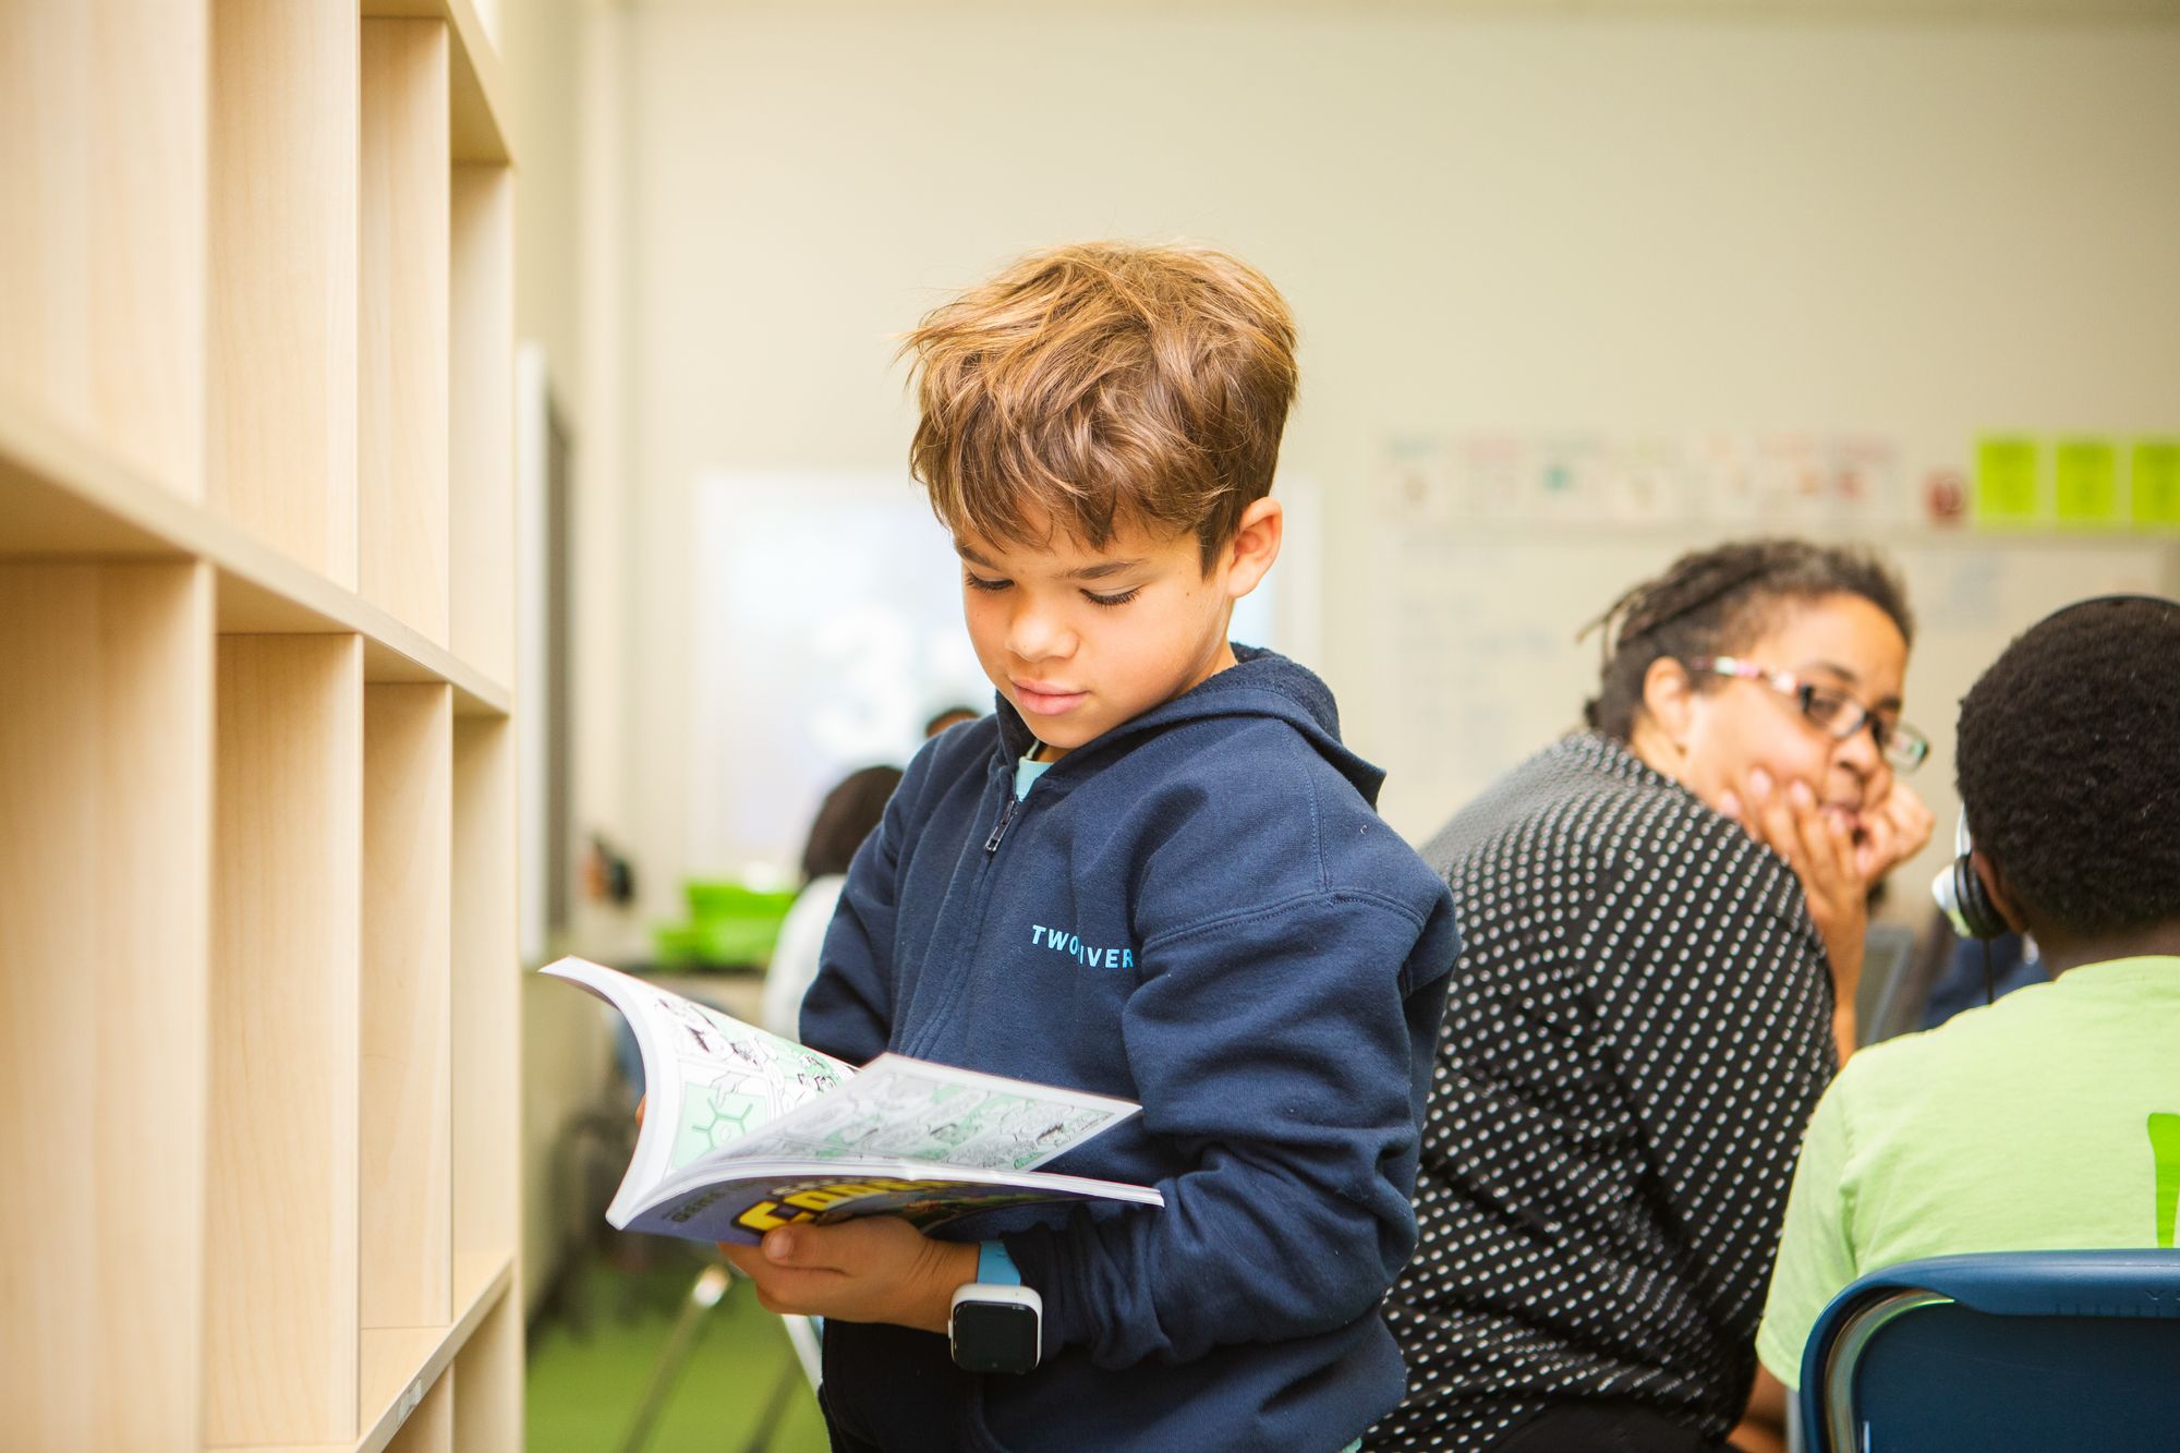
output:
[[[957,535],[1103,550],[1136,524],[1195,530],[1210,569],[1271,491],[1295,401],[1295,319],[1208,247],[1031,253],[931,310],[913,356],[909,469]]]

